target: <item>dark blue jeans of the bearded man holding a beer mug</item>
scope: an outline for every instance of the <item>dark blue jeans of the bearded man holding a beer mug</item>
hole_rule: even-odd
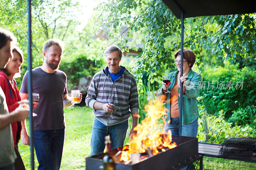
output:
[[[38,170],[59,170],[65,138],[65,128],[34,131],[34,146],[39,163]]]

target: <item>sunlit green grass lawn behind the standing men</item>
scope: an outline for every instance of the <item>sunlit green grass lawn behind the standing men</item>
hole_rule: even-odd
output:
[[[61,168],[65,170],[85,169],[85,158],[90,155],[92,133],[92,109],[85,107],[64,108],[66,120],[65,142],[62,154]],[[129,121],[130,123],[131,121]],[[27,127],[28,121],[27,121]],[[130,127],[130,126],[129,126]],[[127,133],[129,134],[130,128]],[[125,143],[128,142],[126,135]],[[19,151],[27,170],[30,166],[30,147],[19,143]],[[35,154],[35,169],[38,162]]]

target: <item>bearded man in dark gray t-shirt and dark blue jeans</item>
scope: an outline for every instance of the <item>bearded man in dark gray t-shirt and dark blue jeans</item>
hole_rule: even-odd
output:
[[[63,42],[49,39],[44,43],[44,63],[32,70],[32,91],[39,94],[39,102],[33,117],[35,151],[38,169],[60,169],[65,136],[63,107],[69,107],[71,97],[67,91],[67,76],[60,71]],[[25,73],[20,88],[21,99],[28,97],[28,75]],[[82,94],[80,94],[80,101]],[[22,124],[21,142],[29,145],[25,123]]]

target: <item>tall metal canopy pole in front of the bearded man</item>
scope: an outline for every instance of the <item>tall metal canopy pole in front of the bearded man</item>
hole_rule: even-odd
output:
[[[34,163],[34,131],[33,131],[33,105],[32,105],[32,74],[31,74],[31,69],[32,69],[32,50],[31,50],[31,0],[27,0],[27,13],[28,13],[28,100],[29,100],[29,129],[30,129],[30,165],[31,165],[31,170],[35,169],[35,163]]]

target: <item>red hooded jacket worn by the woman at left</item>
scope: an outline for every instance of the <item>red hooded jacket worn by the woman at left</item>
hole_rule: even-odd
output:
[[[16,81],[12,82],[9,80],[8,76],[0,71],[0,86],[4,91],[6,103],[8,106],[9,113],[15,110],[19,104],[17,102],[20,101],[20,94],[19,89],[17,88]],[[13,141],[14,146],[18,145],[20,140],[20,131],[21,131],[21,124],[20,122],[12,122],[12,135],[13,135]]]

